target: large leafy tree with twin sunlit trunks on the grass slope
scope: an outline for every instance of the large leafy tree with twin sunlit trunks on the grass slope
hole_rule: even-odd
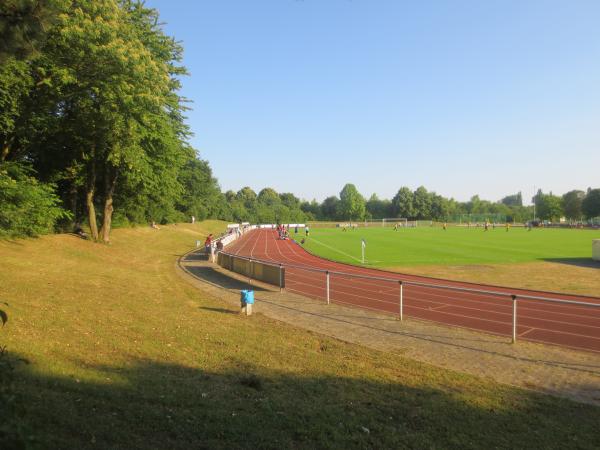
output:
[[[99,207],[104,242],[119,186],[174,198],[189,158],[177,95],[181,48],[157,19],[139,2],[72,1],[42,49],[49,81],[36,95],[50,105],[53,128],[32,154],[41,171],[55,166],[46,176],[85,191],[94,239]]]

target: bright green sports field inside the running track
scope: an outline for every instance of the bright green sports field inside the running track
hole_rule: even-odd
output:
[[[350,264],[376,267],[415,265],[501,264],[532,261],[591,261],[592,239],[600,230],[496,227],[312,228],[304,246],[310,252]]]

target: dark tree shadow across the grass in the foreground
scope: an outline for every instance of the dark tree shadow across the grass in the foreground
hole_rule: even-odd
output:
[[[422,366],[410,364],[418,373],[394,378],[394,369],[380,376],[374,368],[359,378],[350,366],[333,376],[236,357],[208,370],[144,359],[82,362],[87,379],[29,364],[19,366],[16,390],[44,448],[600,446],[600,408],[452,372],[422,378]]]

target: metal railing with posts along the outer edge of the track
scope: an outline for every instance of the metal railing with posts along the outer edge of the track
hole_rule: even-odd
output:
[[[405,301],[404,301],[405,292],[404,292],[404,290],[405,290],[405,287],[407,287],[407,286],[416,286],[416,287],[422,287],[422,288],[427,288],[427,289],[436,289],[436,290],[441,290],[441,291],[463,292],[463,293],[476,294],[476,295],[485,295],[488,297],[498,297],[500,299],[507,299],[512,302],[512,313],[511,313],[511,315],[512,315],[512,336],[511,336],[511,338],[512,338],[513,343],[517,341],[517,313],[518,313],[518,302],[520,300],[539,301],[539,302],[547,302],[547,303],[562,304],[562,305],[572,305],[572,306],[583,306],[586,308],[593,308],[593,309],[600,308],[600,298],[598,299],[599,303],[582,302],[582,301],[577,301],[577,300],[567,300],[567,299],[559,299],[559,298],[552,298],[552,297],[545,297],[545,296],[528,295],[528,294],[518,292],[519,290],[515,290],[515,291],[511,292],[509,288],[506,288],[506,291],[476,289],[476,288],[464,287],[464,286],[452,286],[452,285],[441,284],[441,283],[426,283],[426,282],[422,282],[422,281],[401,279],[400,276],[398,278],[388,278],[388,277],[365,275],[365,274],[360,274],[360,273],[319,269],[319,268],[301,265],[301,264],[279,263],[276,261],[267,261],[267,260],[262,260],[259,258],[240,256],[240,255],[235,255],[235,254],[228,253],[228,252],[224,252],[224,254],[228,255],[231,258],[237,258],[237,259],[249,261],[250,264],[252,264],[252,262],[256,262],[256,263],[261,263],[261,264],[265,264],[265,265],[279,267],[280,291],[283,290],[283,287],[285,285],[285,280],[283,279],[283,277],[284,277],[284,274],[286,273],[286,269],[296,269],[296,270],[302,270],[302,271],[306,271],[306,272],[322,273],[325,276],[324,295],[322,297],[325,299],[327,304],[331,303],[331,276],[332,275],[337,275],[340,277],[352,278],[352,279],[363,279],[363,280],[380,281],[380,282],[386,282],[386,283],[395,283],[396,285],[399,286],[399,296],[398,296],[398,303],[397,303],[398,309],[395,314],[398,314],[400,320],[403,320],[404,315],[405,315],[404,314],[404,309],[405,309]],[[563,294],[558,294],[558,295],[563,295]],[[564,294],[564,295],[566,296],[568,294]],[[318,296],[318,297],[322,298],[321,296]],[[344,302],[340,302],[340,303],[344,303]],[[359,306],[359,307],[361,306],[360,304],[353,304],[353,305]],[[364,307],[367,309],[377,309],[377,308],[369,308],[367,306],[364,306]],[[382,312],[389,312],[388,310],[384,310],[384,309],[377,309],[377,310],[382,311]],[[600,324],[598,325],[598,327],[600,327]]]

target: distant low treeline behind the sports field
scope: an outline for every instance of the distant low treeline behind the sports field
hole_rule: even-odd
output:
[[[565,217],[569,221],[600,216],[600,189],[570,191],[562,197],[541,190],[532,199],[533,206],[523,206],[519,192],[504,197],[498,202],[481,200],[475,195],[467,202],[447,199],[421,186],[414,191],[401,187],[391,199],[380,199],[373,194],[368,200],[356,186],[346,184],[338,196],[327,197],[323,202],[300,201],[293,194],[277,194],[265,188],[257,195],[251,188],[244,187],[237,193],[225,194],[226,207],[223,218],[250,222],[296,222],[305,220],[369,220],[402,217],[410,220],[438,220],[463,222],[508,220],[526,222],[533,219],[558,221]]]

